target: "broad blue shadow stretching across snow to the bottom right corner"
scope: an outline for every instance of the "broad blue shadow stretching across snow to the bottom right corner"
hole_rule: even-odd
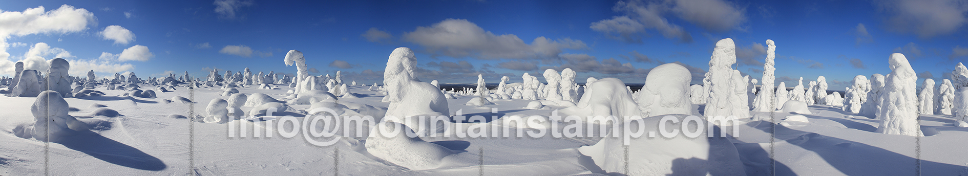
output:
[[[846,175],[915,175],[918,171],[923,175],[957,175],[959,170],[965,168],[961,165],[923,160],[920,161],[921,167],[918,167],[919,161],[915,158],[880,147],[816,132],[797,131],[779,125],[775,127],[776,139],[816,153]],[[770,132],[770,123],[761,123],[754,129]],[[909,141],[897,142],[910,142],[910,145],[915,145],[915,138],[909,138]]]

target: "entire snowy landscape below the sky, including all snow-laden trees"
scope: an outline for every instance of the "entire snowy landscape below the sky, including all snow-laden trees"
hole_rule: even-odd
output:
[[[369,86],[248,69],[87,80],[58,61],[0,86],[0,175],[968,175],[963,65],[941,96],[918,99],[895,53],[892,73],[858,78],[843,99],[823,76],[749,95],[735,62],[725,39],[706,85],[671,63],[638,91],[614,77],[580,86],[570,70],[547,70],[551,84],[525,73],[441,91],[418,79],[407,47],[390,54],[385,85]],[[934,97],[954,115],[920,110]]]

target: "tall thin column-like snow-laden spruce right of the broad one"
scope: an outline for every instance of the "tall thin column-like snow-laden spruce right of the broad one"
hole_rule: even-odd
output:
[[[767,60],[763,64],[763,78],[760,79],[762,86],[760,86],[760,94],[756,96],[756,101],[753,101],[756,103],[753,105],[753,111],[769,112],[779,108],[775,106],[777,104],[774,100],[776,96],[773,95],[773,79],[775,78],[773,71],[776,70],[776,68],[773,68],[776,65],[773,62],[773,59],[776,58],[775,52],[776,44],[773,44],[772,40],[767,40]]]

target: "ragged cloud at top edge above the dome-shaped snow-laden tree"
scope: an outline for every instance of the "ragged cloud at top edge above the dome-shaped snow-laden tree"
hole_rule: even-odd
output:
[[[592,22],[590,28],[606,37],[625,43],[642,43],[646,29],[654,29],[667,39],[692,43],[692,36],[679,24],[678,17],[711,32],[740,29],[746,21],[745,8],[723,0],[631,0],[616,3],[613,11],[624,15]]]

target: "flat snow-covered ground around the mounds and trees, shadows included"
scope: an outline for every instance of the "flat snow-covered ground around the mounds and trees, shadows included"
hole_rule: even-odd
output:
[[[142,86],[144,87],[144,86]],[[237,88],[242,94],[262,93],[273,98],[286,97],[286,86],[264,90]],[[369,86],[348,86],[358,98],[340,103],[380,103],[383,95],[367,90]],[[422,137],[454,151],[439,168],[410,170],[378,161],[355,139],[344,139],[332,146],[316,146],[303,137],[286,138],[278,132],[272,137],[228,137],[228,126],[239,123],[264,126],[263,122],[233,120],[228,124],[193,123],[172,114],[204,115],[205,103],[221,96],[220,88],[177,88],[157,93],[157,99],[121,96],[122,90],[106,90],[103,97],[67,98],[70,115],[91,126],[60,142],[45,143],[15,135],[20,124],[33,123],[30,106],[36,98],[0,97],[0,175],[573,175],[606,173],[578,148],[593,145],[601,137]],[[185,97],[195,103],[165,103],[165,99]],[[465,105],[477,96],[456,96],[448,100],[451,113],[507,117],[516,114],[550,116],[552,109],[526,109],[530,101],[496,100],[483,107]],[[105,106],[105,107],[99,107]],[[298,110],[309,104],[291,105]],[[702,105],[693,104],[700,115]],[[93,114],[99,108],[113,109],[119,115]],[[248,111],[253,107],[242,107]],[[492,113],[496,108],[497,113]],[[771,112],[753,112],[753,118],[735,126],[740,133],[731,138],[740,154],[745,173],[769,174],[771,151],[777,175],[964,175],[968,174],[968,129],[953,127],[948,115],[922,115],[924,137],[874,132],[878,121],[839,107],[810,105],[803,114],[808,123],[792,122],[775,126],[771,137]],[[505,116],[507,115],[507,116]],[[775,112],[776,122],[791,113]],[[658,118],[658,117],[650,117]],[[489,119],[490,120],[490,119]],[[494,124],[496,121],[491,121]],[[469,123],[472,125],[476,123]],[[558,128],[563,129],[564,125]],[[725,127],[727,131],[729,128]],[[515,132],[515,131],[511,131]],[[600,133],[595,133],[600,135]],[[301,134],[300,134],[301,135]],[[512,134],[514,135],[514,134]],[[658,138],[656,138],[658,139]],[[321,139],[319,139],[321,141]],[[920,140],[920,145],[919,144]],[[773,142],[773,143],[771,143]],[[49,145],[49,149],[45,149]],[[771,148],[772,147],[772,148]],[[406,148],[400,148],[406,150]],[[630,150],[652,150],[648,147]],[[920,152],[919,152],[920,151]],[[920,169],[918,159],[921,159]],[[483,163],[483,164],[481,164]],[[192,167],[194,165],[194,169]],[[715,168],[712,168],[715,169]],[[674,169],[675,170],[675,169]],[[694,170],[682,170],[694,171]]]

